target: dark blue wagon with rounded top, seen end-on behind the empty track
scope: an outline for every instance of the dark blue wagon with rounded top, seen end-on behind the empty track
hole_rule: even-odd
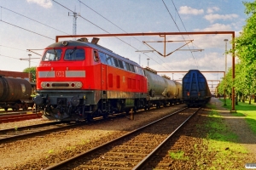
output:
[[[207,79],[198,70],[190,70],[183,77],[183,102],[188,106],[207,104],[212,95]]]

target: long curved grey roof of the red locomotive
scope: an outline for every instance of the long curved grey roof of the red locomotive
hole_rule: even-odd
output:
[[[64,42],[64,41],[63,41]],[[95,48],[98,51],[103,52],[104,54],[108,54],[111,55],[117,59],[121,59],[124,60],[127,63],[131,63],[133,65],[136,65],[137,67],[141,67],[140,65],[138,65],[136,62],[127,59],[125,57],[120,56],[119,54],[114,54],[111,50],[109,50],[108,48],[104,48],[100,45],[94,44],[94,43],[90,43],[90,42],[80,42],[80,41],[65,41],[67,42],[67,45],[64,46],[62,44],[62,42],[55,42],[51,45],[49,45],[47,48],[67,48],[67,47],[90,47],[90,48]]]

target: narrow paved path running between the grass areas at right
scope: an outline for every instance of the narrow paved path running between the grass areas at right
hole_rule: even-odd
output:
[[[231,131],[238,136],[238,142],[247,147],[256,161],[256,135],[247,125],[245,116],[233,116],[229,110],[222,107],[223,103],[217,98],[212,98],[210,104],[216,106],[216,110],[220,116],[223,116],[224,121],[230,127]]]

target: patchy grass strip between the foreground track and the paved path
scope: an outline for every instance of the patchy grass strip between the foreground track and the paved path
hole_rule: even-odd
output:
[[[201,128],[207,130],[207,137],[203,139],[205,148],[197,154],[205,152],[205,156],[197,160],[198,166],[205,162],[203,157],[212,157],[207,162],[207,169],[236,169],[238,165],[244,165],[249,155],[247,148],[241,144],[237,144],[237,135],[232,133],[226,126],[222,116],[216,111],[215,105],[208,105],[212,108],[209,114],[209,121]],[[242,116],[238,114],[237,116]],[[197,146],[195,146],[195,153]],[[234,164],[236,162],[236,164]],[[199,166],[200,167],[200,166]],[[206,167],[201,167],[205,169]]]

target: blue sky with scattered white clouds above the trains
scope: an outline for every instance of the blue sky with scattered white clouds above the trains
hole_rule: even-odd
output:
[[[244,9],[241,0],[0,0],[0,70],[23,71],[29,63],[37,66],[39,54],[55,42],[55,36],[73,35],[74,12],[79,14],[77,35],[235,31],[238,37],[248,18]],[[60,39],[64,40],[72,38]],[[231,35],[167,36],[166,41],[172,42],[166,42],[166,54],[173,53],[166,57],[160,55],[164,54],[162,41],[159,36],[100,37],[98,43],[155,71],[225,71],[224,52],[231,48]],[[228,54],[227,68],[231,59]],[[161,74],[181,80],[184,73]],[[204,75],[214,81],[224,77],[223,73]],[[211,83],[213,87],[218,82]]]

